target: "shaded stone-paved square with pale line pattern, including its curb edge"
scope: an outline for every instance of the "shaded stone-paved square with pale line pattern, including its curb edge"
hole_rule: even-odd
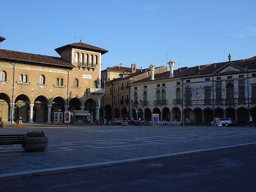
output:
[[[99,126],[5,124],[0,134],[44,131],[48,148],[26,153],[0,145],[0,180],[160,159],[256,143],[256,128],[212,126]]]

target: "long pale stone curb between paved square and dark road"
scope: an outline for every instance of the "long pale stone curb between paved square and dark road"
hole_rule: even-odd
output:
[[[246,145],[255,145],[255,144],[256,142],[244,143],[244,144],[238,144],[238,145],[228,145],[228,146],[207,148],[207,149],[201,149],[201,150],[183,151],[183,152],[177,152],[177,153],[171,153],[171,154],[131,158],[131,159],[108,161],[108,162],[101,162],[101,163],[90,163],[90,164],[76,165],[76,166],[64,166],[64,167],[56,167],[56,168],[49,168],[49,169],[36,169],[36,170],[24,171],[24,172],[5,173],[5,174],[0,174],[0,180],[8,180],[8,179],[21,178],[21,177],[33,177],[38,175],[48,175],[48,174],[63,173],[63,172],[74,172],[74,171],[81,171],[84,169],[124,165],[127,163],[139,163],[143,161],[160,160],[168,157],[180,157],[183,155],[190,155],[190,154],[220,150],[225,148],[236,148],[236,147],[242,147]]]

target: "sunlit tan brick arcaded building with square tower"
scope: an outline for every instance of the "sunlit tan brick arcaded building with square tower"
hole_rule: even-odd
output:
[[[3,43],[4,44],[4,43]],[[81,41],[55,49],[60,57],[0,49],[1,121],[99,119],[101,57],[108,50]]]

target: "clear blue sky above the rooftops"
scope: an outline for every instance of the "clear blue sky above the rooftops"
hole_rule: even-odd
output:
[[[109,50],[102,70],[166,66],[166,53],[192,67],[256,56],[256,1],[0,0],[0,36],[0,49],[51,56],[82,38]]]

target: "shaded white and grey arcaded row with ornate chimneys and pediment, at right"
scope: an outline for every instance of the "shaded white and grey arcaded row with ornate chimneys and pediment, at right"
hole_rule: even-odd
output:
[[[173,70],[130,84],[139,116],[161,120],[209,124],[215,117],[228,117],[237,124],[256,120],[256,57]],[[131,102],[132,104],[132,102]],[[147,105],[145,105],[147,104]],[[136,107],[131,105],[135,116]]]

